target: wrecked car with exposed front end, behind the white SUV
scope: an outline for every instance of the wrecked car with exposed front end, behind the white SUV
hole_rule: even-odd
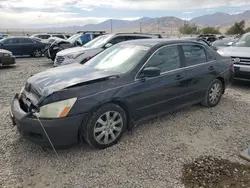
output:
[[[103,35],[104,31],[85,31],[85,32],[78,32],[77,34],[71,36],[67,40],[63,39],[53,39],[54,41],[49,41],[51,45],[46,50],[45,55],[48,59],[52,61],[55,60],[56,54],[64,49],[82,46],[87,42],[95,39],[96,37]]]

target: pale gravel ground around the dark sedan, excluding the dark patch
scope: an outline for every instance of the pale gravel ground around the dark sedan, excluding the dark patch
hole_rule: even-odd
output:
[[[185,108],[135,128],[111,148],[81,144],[57,158],[21,139],[8,116],[13,94],[50,67],[45,58],[19,58],[16,67],[0,68],[0,187],[182,188],[183,165],[200,156],[246,163],[239,152],[250,144],[249,83],[231,86],[215,108]]]

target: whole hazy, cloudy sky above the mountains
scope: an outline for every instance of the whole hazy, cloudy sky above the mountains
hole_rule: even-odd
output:
[[[250,0],[0,0],[1,28],[85,25],[106,19],[176,16],[250,10]]]

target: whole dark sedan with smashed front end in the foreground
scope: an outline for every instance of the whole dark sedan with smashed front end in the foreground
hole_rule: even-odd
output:
[[[230,83],[231,65],[230,58],[196,41],[127,41],[85,64],[30,77],[10,114],[34,143],[50,146],[48,135],[54,147],[84,139],[103,149],[146,119],[195,103],[216,106]]]

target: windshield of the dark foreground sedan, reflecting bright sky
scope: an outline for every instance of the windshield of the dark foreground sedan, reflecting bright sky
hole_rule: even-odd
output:
[[[147,46],[117,44],[90,59],[83,66],[123,74],[135,67],[149,49]]]

